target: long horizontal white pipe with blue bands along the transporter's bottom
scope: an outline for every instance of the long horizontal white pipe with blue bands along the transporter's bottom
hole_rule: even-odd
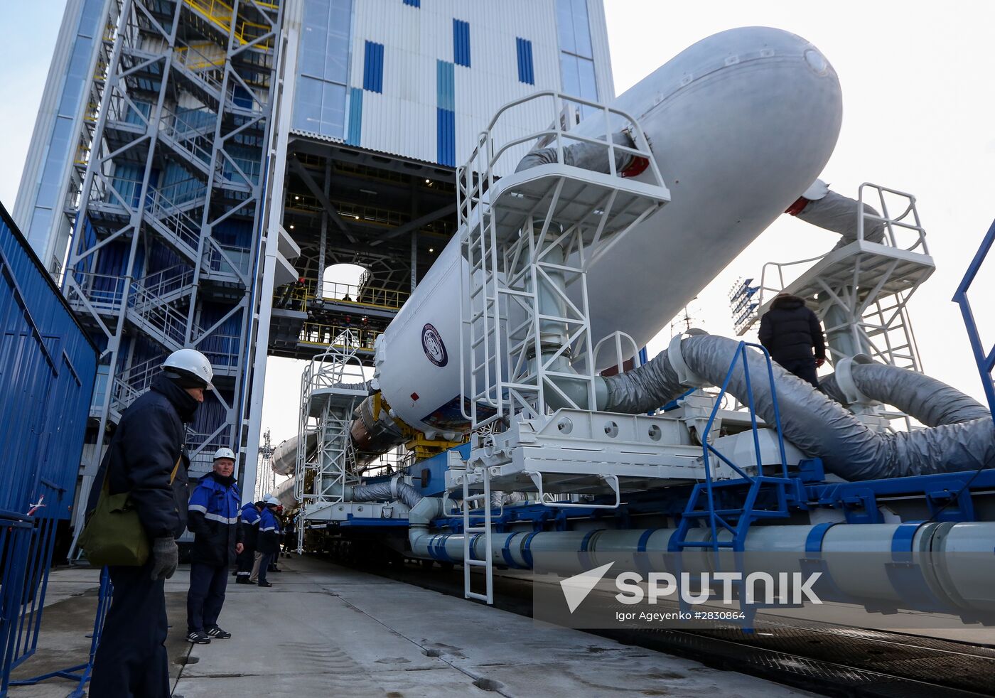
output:
[[[417,512],[416,512],[417,510]],[[412,510],[409,521],[411,552],[417,558],[442,563],[463,563],[463,534],[429,532],[433,518],[442,515],[442,500],[425,498]],[[915,526],[914,530],[908,529]],[[666,571],[671,538],[676,529],[605,530],[595,532],[563,531],[542,533],[511,533],[492,536],[492,555],[496,565],[530,569],[547,569],[563,561],[564,555],[580,555],[578,562],[593,569],[617,561],[626,554],[646,553],[655,572]],[[728,541],[730,534],[722,531],[719,540]],[[692,529],[690,542],[709,542],[708,529]],[[890,574],[893,551],[914,551],[923,556],[915,566],[902,566],[911,571],[938,600],[954,612],[995,610],[995,557],[991,555],[995,540],[995,523],[965,522],[925,524],[842,524],[828,529],[815,526],[754,526],[744,543],[749,566],[744,573],[776,569],[779,572],[811,572],[803,561],[822,558],[820,571],[828,576],[845,596],[860,599],[865,604],[912,608],[904,583]],[[484,560],[485,538],[477,534],[471,540],[471,555]],[[601,554],[599,559],[598,554]],[[718,560],[725,570],[734,569],[731,552],[719,553]],[[659,557],[654,557],[659,556]],[[765,567],[764,556],[771,562]],[[681,571],[714,572],[714,553],[710,549],[686,549],[681,554]],[[789,560],[797,563],[795,570],[785,567]],[[914,559],[913,559],[914,562]],[[879,564],[880,563],[880,564]],[[833,600],[833,599],[827,599]],[[838,599],[844,600],[844,599]]]

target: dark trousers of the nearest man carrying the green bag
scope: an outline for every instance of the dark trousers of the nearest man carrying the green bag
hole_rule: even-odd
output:
[[[108,568],[114,585],[94,659],[90,695],[100,698],[168,698],[166,593],[140,568]]]

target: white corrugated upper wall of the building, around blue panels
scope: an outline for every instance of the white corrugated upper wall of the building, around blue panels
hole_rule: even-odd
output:
[[[588,0],[588,8],[599,95],[610,99],[614,89],[601,0]],[[439,161],[437,62],[454,62],[454,18],[470,24],[471,45],[470,67],[454,67],[456,164],[470,156],[478,134],[501,105],[540,90],[561,89],[555,0],[422,0],[421,7],[402,0],[357,1],[350,88],[363,88],[365,42],[384,46],[382,93],[362,94],[361,147]],[[518,80],[516,37],[532,44],[534,85]],[[513,125],[498,129],[499,137],[544,128],[553,110],[546,101],[508,116]],[[525,149],[519,146],[505,159],[516,162]],[[508,171],[507,166],[499,170]]]

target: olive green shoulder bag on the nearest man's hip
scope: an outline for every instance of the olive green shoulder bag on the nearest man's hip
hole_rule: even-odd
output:
[[[176,459],[169,475],[170,485],[176,479],[182,457]],[[141,567],[148,560],[148,536],[131,505],[131,493],[110,494],[107,475],[103,476],[97,509],[80,535],[80,548],[94,567]]]

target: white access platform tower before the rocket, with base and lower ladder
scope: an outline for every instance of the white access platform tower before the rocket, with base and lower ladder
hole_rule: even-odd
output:
[[[560,118],[570,105],[601,112],[606,123],[621,122],[633,145],[620,145],[611,136],[591,138],[572,132],[575,121]],[[508,131],[506,121],[521,107],[543,114],[543,122],[551,125],[530,136],[496,137],[496,133],[520,129]],[[522,150],[536,142],[555,146],[556,162],[497,177],[508,160],[516,162]],[[562,164],[564,148],[578,144],[603,152],[604,172]],[[624,178],[616,166],[625,159],[623,153],[646,162],[649,181]],[[608,473],[609,466],[603,462],[580,462],[583,458],[575,456],[581,451],[571,451],[570,457],[559,451],[559,461],[555,456],[516,457],[515,464],[502,462],[494,468],[480,454],[495,455],[499,450],[494,448],[498,425],[508,429],[501,436],[528,431],[536,446],[544,444],[538,434],[546,426],[552,426],[557,436],[569,434],[569,428],[557,430],[551,424],[551,419],[570,420],[557,417],[560,412],[548,407],[547,400],[573,408],[595,404],[597,338],[591,336],[588,317],[587,271],[610,246],[668,201],[670,192],[635,119],[556,92],[536,93],[502,107],[481,134],[469,161],[457,169],[464,258],[461,297],[467,300],[460,304],[461,394],[465,396],[461,409],[475,430],[475,450],[463,469],[450,471],[447,487],[463,491],[467,598],[493,600],[491,488],[492,477],[505,475],[501,470],[505,465],[517,468],[504,480],[507,489],[538,491],[547,506],[570,506],[553,493],[582,480],[582,487],[590,487],[591,492],[614,492],[614,506],[618,506],[618,477]],[[500,452],[512,451],[522,454],[513,447]],[[564,468],[571,472],[563,472]],[[475,505],[483,508],[483,520],[479,514],[471,518]],[[483,560],[475,560],[471,552],[482,536],[486,553]],[[473,568],[484,569],[483,593],[473,588]]]

